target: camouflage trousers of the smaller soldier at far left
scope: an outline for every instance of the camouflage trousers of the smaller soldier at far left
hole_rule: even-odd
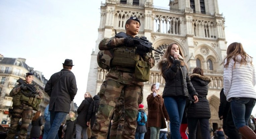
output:
[[[11,116],[11,126],[8,129],[6,139],[14,139],[17,133],[17,127],[19,125],[20,118],[22,118],[22,120],[18,139],[26,139],[29,123],[31,122],[32,118],[32,110],[33,108],[31,106],[28,106],[24,103],[21,103],[20,107],[13,108]]]

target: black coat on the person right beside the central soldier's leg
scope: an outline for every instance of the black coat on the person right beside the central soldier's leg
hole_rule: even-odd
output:
[[[99,101],[100,101],[99,95],[95,95],[93,97],[93,101],[91,102],[90,107],[88,109],[87,122],[90,122],[91,127],[93,126],[93,124],[96,120],[95,114],[98,112]],[[94,107],[96,107],[96,108],[98,107],[96,112],[93,112]]]

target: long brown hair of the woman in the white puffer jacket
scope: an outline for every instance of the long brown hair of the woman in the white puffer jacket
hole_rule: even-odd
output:
[[[247,63],[246,57],[248,57],[249,55],[244,51],[243,45],[241,43],[233,42],[227,47],[227,57],[225,58],[225,59],[227,59],[227,63],[224,65],[224,67],[225,68],[228,67],[229,61],[232,57],[233,57],[233,60],[235,61],[235,63],[234,63],[234,67],[235,67],[236,58],[238,55],[241,55],[241,57],[242,57],[240,63],[246,64]],[[252,57],[250,57],[250,58],[252,58]],[[225,59],[224,59],[224,61],[225,61]],[[250,63],[252,64],[252,60]]]

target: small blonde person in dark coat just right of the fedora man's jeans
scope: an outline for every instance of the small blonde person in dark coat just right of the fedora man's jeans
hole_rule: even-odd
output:
[[[73,139],[76,134],[76,117],[75,112],[69,112],[69,118],[66,121],[64,139]]]

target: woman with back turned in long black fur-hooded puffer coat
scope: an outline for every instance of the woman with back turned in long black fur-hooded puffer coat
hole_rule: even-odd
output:
[[[198,102],[191,103],[187,108],[187,122],[189,129],[189,139],[196,138],[196,125],[200,121],[201,134],[204,139],[211,139],[209,132],[209,119],[211,112],[209,102],[206,99],[208,94],[208,84],[210,78],[204,76],[201,68],[195,68],[193,74],[190,75],[192,85],[198,93]]]

